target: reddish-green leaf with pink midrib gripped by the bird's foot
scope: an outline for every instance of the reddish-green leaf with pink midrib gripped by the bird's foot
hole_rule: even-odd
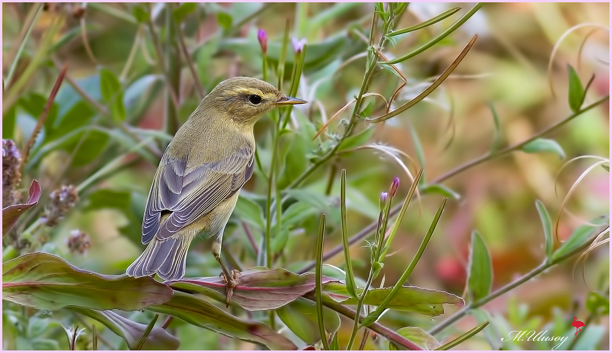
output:
[[[339,283],[323,277],[323,283]],[[166,282],[172,288],[198,292],[225,302],[225,281],[220,277],[183,278]],[[285,269],[254,267],[240,273],[232,302],[249,311],[278,309],[315,290],[315,273],[296,275]]]

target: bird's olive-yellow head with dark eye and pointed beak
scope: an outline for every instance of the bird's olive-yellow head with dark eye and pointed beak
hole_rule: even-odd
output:
[[[203,101],[220,113],[242,124],[255,124],[276,106],[304,104],[305,100],[287,97],[271,84],[251,77],[234,77],[217,84]]]

